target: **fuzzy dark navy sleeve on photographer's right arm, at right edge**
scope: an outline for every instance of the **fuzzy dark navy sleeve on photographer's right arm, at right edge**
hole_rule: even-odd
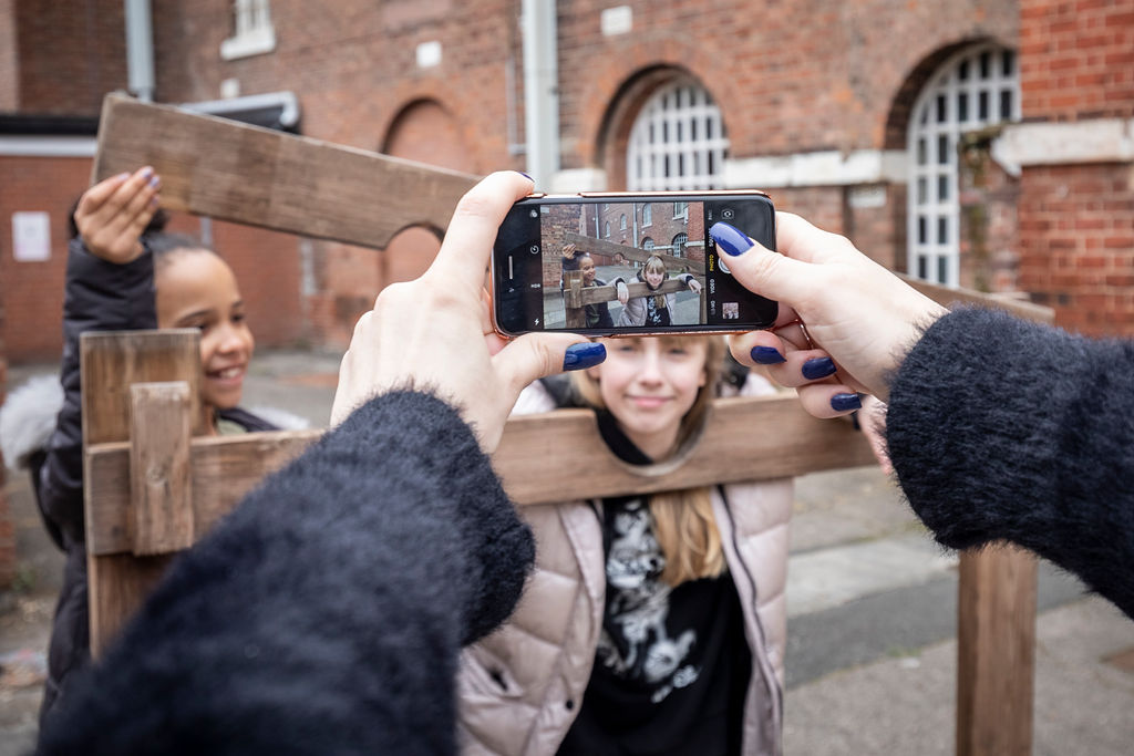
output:
[[[939,542],[1017,543],[1134,617],[1134,345],[951,313],[898,372],[887,441]]]

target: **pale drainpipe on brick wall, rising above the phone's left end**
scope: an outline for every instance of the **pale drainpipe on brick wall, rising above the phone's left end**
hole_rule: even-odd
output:
[[[550,186],[559,170],[559,45],[555,0],[523,0],[524,133],[527,173]]]

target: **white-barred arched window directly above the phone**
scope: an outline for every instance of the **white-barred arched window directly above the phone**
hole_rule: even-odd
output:
[[[720,186],[728,137],[709,92],[688,79],[658,90],[631,128],[626,185],[631,192]]]

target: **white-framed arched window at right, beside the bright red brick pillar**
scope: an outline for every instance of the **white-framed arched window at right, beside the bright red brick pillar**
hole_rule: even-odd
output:
[[[965,131],[1019,120],[1016,53],[995,44],[963,50],[930,78],[912,113],[906,270],[955,287],[960,277],[957,143]]]

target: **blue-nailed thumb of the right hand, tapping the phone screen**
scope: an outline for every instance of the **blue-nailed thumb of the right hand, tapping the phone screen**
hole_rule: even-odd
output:
[[[728,223],[713,223],[709,235],[729,273],[748,291],[796,307],[814,288],[813,282],[809,286],[810,263],[772,252]]]

